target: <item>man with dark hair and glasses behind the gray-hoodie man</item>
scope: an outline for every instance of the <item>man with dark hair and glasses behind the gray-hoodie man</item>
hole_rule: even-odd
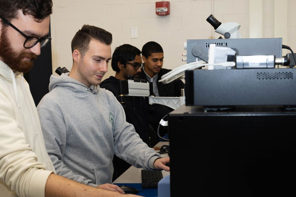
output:
[[[129,75],[137,75],[141,71],[142,57],[141,51],[130,44],[123,44],[115,48],[111,66],[115,73],[115,77],[111,76],[102,81],[101,88],[105,88],[119,96],[119,81],[127,80]],[[151,131],[149,127],[148,100],[144,97],[124,97],[123,109],[126,121],[135,127],[136,132],[141,139],[149,146],[153,147],[157,143],[155,131]],[[113,158],[113,180],[120,176],[131,165],[114,156]]]

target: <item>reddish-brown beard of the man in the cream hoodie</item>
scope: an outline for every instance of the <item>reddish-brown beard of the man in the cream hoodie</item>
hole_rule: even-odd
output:
[[[8,40],[6,27],[2,26],[0,37],[0,57],[13,71],[28,72],[33,67],[33,61],[37,58],[32,52],[15,52]]]

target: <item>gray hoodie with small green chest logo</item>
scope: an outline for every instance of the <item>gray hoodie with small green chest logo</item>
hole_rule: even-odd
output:
[[[108,90],[86,87],[68,76],[50,77],[49,93],[37,106],[47,152],[57,174],[91,186],[111,183],[115,154],[153,170],[161,156],[126,122]]]

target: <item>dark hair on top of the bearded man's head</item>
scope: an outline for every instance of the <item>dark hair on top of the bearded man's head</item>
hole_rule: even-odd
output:
[[[7,21],[16,18],[18,10],[39,22],[52,13],[52,0],[0,0],[0,15]]]

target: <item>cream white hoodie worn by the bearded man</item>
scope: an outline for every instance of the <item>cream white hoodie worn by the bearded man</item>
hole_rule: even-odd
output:
[[[0,196],[44,197],[52,172],[29,85],[0,61]]]

